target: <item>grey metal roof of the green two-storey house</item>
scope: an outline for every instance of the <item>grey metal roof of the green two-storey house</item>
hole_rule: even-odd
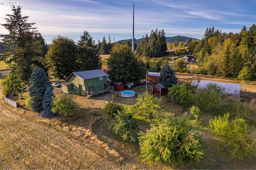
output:
[[[94,70],[87,70],[87,71],[78,71],[78,72],[73,72],[75,75],[82,79],[93,79],[97,77],[104,77],[108,76],[107,73],[101,71],[100,69],[94,69]]]

